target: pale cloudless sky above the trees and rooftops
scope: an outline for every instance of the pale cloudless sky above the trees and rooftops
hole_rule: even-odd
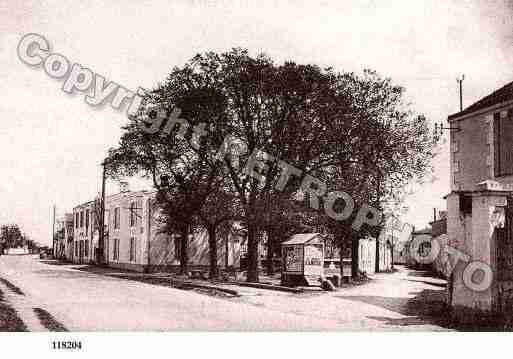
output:
[[[458,111],[461,73],[464,106],[513,81],[512,14],[505,1],[0,0],[0,224],[51,243],[53,205],[59,216],[94,198],[100,163],[127,121],[21,62],[16,48],[27,33],[131,90],[153,88],[198,52],[232,47],[277,62],[371,68],[404,86],[412,110],[433,124]],[[416,227],[445,208],[447,143],[433,165],[434,180],[414,186],[405,203],[403,220]],[[117,188],[109,182],[107,194]]]

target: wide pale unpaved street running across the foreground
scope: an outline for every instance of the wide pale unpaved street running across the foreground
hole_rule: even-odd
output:
[[[402,267],[329,293],[229,286],[241,294],[233,298],[78,268],[1,256],[0,290],[29,331],[47,330],[33,308],[70,331],[447,330],[444,281]]]

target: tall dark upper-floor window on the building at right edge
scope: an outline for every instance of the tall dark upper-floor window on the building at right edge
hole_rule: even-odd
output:
[[[513,113],[501,117],[497,112],[493,115],[494,136],[494,169],[495,176],[513,174]]]

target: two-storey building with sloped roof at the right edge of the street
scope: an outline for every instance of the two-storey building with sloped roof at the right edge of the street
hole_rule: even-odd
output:
[[[460,253],[449,255],[449,301],[454,308],[502,311],[513,290],[513,83],[448,121],[447,241]],[[475,268],[481,280],[469,273]]]

